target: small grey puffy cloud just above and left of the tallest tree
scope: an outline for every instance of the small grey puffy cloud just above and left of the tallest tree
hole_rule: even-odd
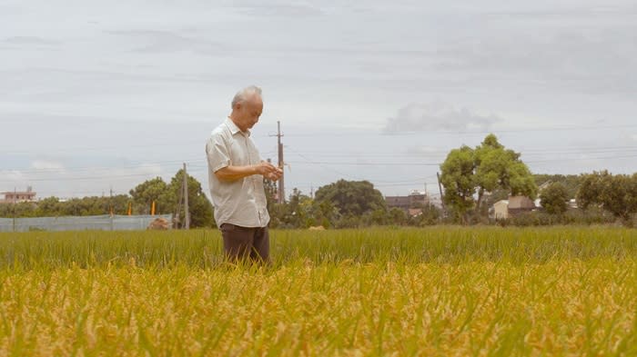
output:
[[[501,122],[501,118],[494,114],[475,114],[465,107],[456,108],[442,102],[412,103],[400,108],[396,117],[389,118],[384,130],[388,134],[427,130],[490,130],[492,124],[498,122]]]

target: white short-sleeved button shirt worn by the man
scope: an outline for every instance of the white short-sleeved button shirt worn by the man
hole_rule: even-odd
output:
[[[231,223],[242,227],[265,227],[268,214],[263,176],[253,174],[238,180],[220,181],[215,173],[229,165],[246,166],[262,160],[250,132],[242,132],[229,118],[212,131],[206,144],[208,184],[217,226]]]

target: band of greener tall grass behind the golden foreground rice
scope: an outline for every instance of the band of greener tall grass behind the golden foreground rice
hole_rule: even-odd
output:
[[[637,257],[637,231],[608,227],[434,227],[271,231],[275,266],[313,263],[454,263]],[[128,264],[206,268],[221,263],[218,231],[1,233],[0,267]]]

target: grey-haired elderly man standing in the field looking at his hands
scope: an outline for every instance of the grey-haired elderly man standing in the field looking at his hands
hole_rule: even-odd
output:
[[[277,181],[283,171],[261,160],[250,130],[263,111],[261,89],[249,86],[232,100],[232,113],[206,144],[208,183],[215,221],[228,259],[269,260],[269,214],[263,178]]]

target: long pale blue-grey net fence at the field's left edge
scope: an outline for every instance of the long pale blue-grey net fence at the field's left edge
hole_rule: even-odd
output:
[[[0,232],[135,231],[145,230],[156,218],[171,222],[170,214],[90,215],[82,217],[0,218]]]

